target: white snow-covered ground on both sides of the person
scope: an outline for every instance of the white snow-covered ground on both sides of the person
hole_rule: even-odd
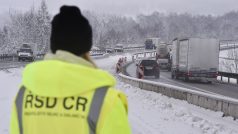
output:
[[[130,54],[124,56],[129,59]],[[116,76],[115,64],[120,57],[98,59],[96,64]],[[11,103],[21,81],[21,71],[22,68],[0,71],[0,134],[8,133]],[[238,134],[238,121],[222,117],[221,112],[144,91],[119,79],[116,88],[128,97],[129,120],[134,134]]]

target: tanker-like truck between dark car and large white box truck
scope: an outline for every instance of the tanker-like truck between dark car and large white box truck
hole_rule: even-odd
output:
[[[161,69],[171,70],[170,49],[168,44],[161,42],[156,47],[156,60]]]

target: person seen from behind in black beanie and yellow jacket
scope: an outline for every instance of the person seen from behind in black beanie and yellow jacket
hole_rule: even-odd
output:
[[[126,96],[90,59],[92,28],[76,6],[52,20],[52,54],[27,65],[11,134],[129,134]]]

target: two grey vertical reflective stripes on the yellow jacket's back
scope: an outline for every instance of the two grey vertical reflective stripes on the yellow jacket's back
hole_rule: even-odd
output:
[[[18,115],[19,134],[23,134],[22,112],[23,112],[23,99],[26,88],[22,86],[16,97],[16,108]],[[90,106],[88,115],[88,125],[90,134],[96,134],[96,127],[103,105],[104,97],[107,93],[108,87],[101,87],[96,89],[93,100]]]

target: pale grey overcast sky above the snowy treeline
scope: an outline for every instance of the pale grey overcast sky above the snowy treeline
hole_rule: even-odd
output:
[[[9,8],[24,11],[32,5],[38,7],[40,1],[1,0],[0,14],[9,11]],[[221,15],[232,10],[238,11],[238,0],[46,0],[46,3],[52,14],[57,13],[63,4],[120,15],[148,14],[153,11]]]

